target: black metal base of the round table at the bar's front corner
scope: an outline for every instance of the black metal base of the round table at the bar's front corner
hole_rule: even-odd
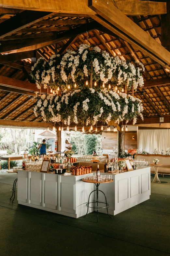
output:
[[[93,191],[90,193],[90,195],[91,195],[93,192],[96,191],[96,192],[97,192],[97,200],[96,200],[96,201],[93,201],[93,202],[89,202],[89,201],[90,201],[90,195],[89,195],[89,200],[88,200],[88,203],[86,204],[87,213],[88,213],[88,211],[89,211],[89,208],[97,209],[97,223],[98,223],[98,209],[106,208],[106,209],[107,209],[107,214],[109,215],[109,213],[108,213],[109,204],[107,203],[105,193],[104,193],[103,191],[99,190],[99,185],[100,185],[100,183],[97,183],[97,184],[95,183],[96,189],[93,190]],[[99,191],[104,194],[106,202],[99,202]],[[97,207],[91,207],[91,206],[89,206],[89,204],[91,204],[91,203],[97,203]],[[99,206],[98,206],[98,203],[106,204],[106,206],[105,206],[105,207],[99,207]],[[87,215],[87,213],[86,213],[86,215]],[[83,218],[86,217],[86,215],[84,215]],[[109,217],[112,219],[112,217],[111,217],[110,215],[109,215]]]

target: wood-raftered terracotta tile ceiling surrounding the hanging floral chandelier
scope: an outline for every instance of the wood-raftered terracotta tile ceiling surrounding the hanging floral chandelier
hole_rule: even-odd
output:
[[[98,1],[100,2],[101,0]],[[148,2],[134,1],[140,2],[140,4],[141,2],[143,4]],[[127,21],[129,21],[129,26],[134,24],[135,30],[140,28],[140,32],[144,31],[144,35],[147,35],[147,38],[149,36],[152,45],[147,46],[145,42],[142,42],[142,39],[140,44],[138,38],[136,37],[137,39],[135,39],[135,36],[132,35],[132,27],[132,31],[126,32],[126,35],[123,34],[122,29],[118,28],[117,25],[115,25],[116,29],[114,25],[109,27],[112,21],[108,19],[109,24],[106,22],[107,15],[106,17],[104,16],[105,20],[104,18],[102,20],[99,15],[100,13],[83,15],[80,12],[78,14],[70,11],[68,15],[68,10],[67,13],[61,13],[61,11],[60,13],[57,11],[52,12],[53,9],[49,11],[47,9],[40,11],[38,8],[37,10],[26,10],[23,7],[24,1],[21,1],[21,3],[23,2],[22,8],[20,8],[20,3],[17,8],[15,8],[15,5],[12,9],[2,8],[1,2],[3,1],[0,0],[1,124],[2,120],[41,123],[41,117],[36,118],[32,109],[34,106],[33,97],[35,91],[38,92],[38,89],[30,76],[31,66],[39,57],[44,57],[48,60],[53,54],[63,53],[68,48],[77,50],[78,46],[82,43],[95,44],[102,50],[108,51],[111,55],[118,55],[120,59],[130,60],[134,64],[135,61],[141,61],[145,66],[145,72],[143,73],[145,84],[144,88],[138,89],[134,95],[143,102],[145,120],[153,116],[162,117],[170,114],[170,55],[168,55],[169,52],[165,48],[161,47],[162,41],[163,44],[169,43],[164,43],[162,30],[165,30],[164,16],[170,16],[170,14],[163,14],[167,12],[164,3],[157,3],[157,9],[151,6],[152,13],[149,8],[153,3],[148,3],[148,9],[145,9],[145,14],[143,15],[125,16],[123,12],[125,14],[130,13],[128,13],[127,9],[125,10],[125,7],[121,10],[122,19],[125,17],[126,25]],[[6,2],[10,1],[6,0]],[[15,2],[13,1],[14,4]],[[75,2],[73,0],[72,4]],[[85,2],[87,1],[82,0],[82,4]],[[95,6],[95,1],[94,4],[93,1],[89,2],[92,2],[91,11],[94,12],[95,9],[95,12],[97,12],[100,9],[98,6]],[[113,1],[103,2],[113,3]],[[122,1],[115,1],[114,7],[117,8],[115,11],[121,9],[118,2]],[[130,3],[133,1],[125,0],[123,3],[125,2]],[[43,3],[44,0],[42,1],[42,6]],[[53,0],[51,0],[51,5],[52,3]],[[101,2],[100,4],[102,5]],[[10,5],[6,6],[11,7]],[[139,11],[137,12],[135,8],[133,12],[138,13]],[[84,8],[84,13],[87,13],[86,9]],[[103,7],[103,9],[105,8]],[[160,14],[157,13],[158,10]],[[170,12],[170,9],[168,10]],[[101,10],[99,11],[101,12]],[[120,13],[118,14],[120,15]],[[114,22],[116,24],[116,21]],[[167,27],[169,27],[169,24],[167,24]],[[124,25],[124,30],[127,30],[127,28]],[[143,37],[142,33],[141,37]],[[127,39],[125,40],[125,38]],[[132,41],[132,38],[134,41]],[[155,50],[155,48],[152,52],[149,49],[149,47],[154,47],[155,41],[157,42],[155,47],[161,47],[158,47],[160,52],[156,52],[157,49]],[[166,49],[168,49],[168,45],[166,45]]]

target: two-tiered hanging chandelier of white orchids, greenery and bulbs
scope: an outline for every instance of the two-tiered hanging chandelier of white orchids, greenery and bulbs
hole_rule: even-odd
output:
[[[143,120],[141,100],[115,90],[143,86],[140,71],[144,67],[138,64],[142,69],[86,44],[80,45],[77,52],[67,50],[63,55],[53,55],[49,61],[40,58],[31,75],[40,90],[47,88],[47,94],[36,97],[35,116],[68,127],[70,123],[81,123],[83,128],[111,120],[119,124],[133,119],[135,124],[138,115]]]

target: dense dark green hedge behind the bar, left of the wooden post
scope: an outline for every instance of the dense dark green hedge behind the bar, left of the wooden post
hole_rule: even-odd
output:
[[[93,150],[96,149],[97,137],[94,134],[84,135],[85,155],[92,155]]]

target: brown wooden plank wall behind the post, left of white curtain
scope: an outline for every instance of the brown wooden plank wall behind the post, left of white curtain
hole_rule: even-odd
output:
[[[134,139],[132,138],[134,136]],[[118,146],[117,132],[102,132],[102,148],[113,149]],[[124,149],[137,148],[137,131],[125,132]]]

